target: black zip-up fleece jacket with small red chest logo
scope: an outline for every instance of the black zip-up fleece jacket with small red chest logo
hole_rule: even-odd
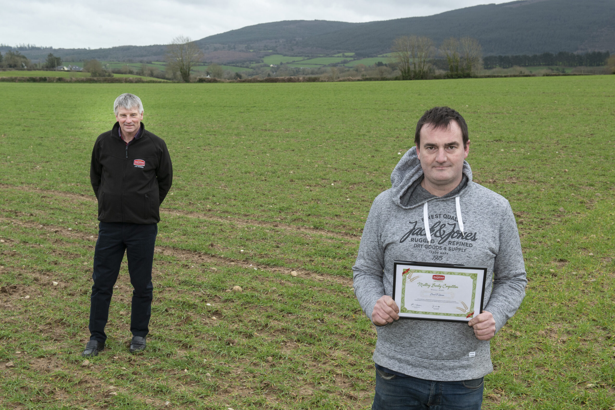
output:
[[[173,181],[167,144],[142,122],[141,136],[128,145],[118,131],[116,122],[98,136],[92,150],[90,181],[98,199],[98,220],[156,224]]]

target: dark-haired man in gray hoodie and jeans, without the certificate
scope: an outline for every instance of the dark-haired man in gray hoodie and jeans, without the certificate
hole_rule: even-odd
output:
[[[426,111],[415,143],[371,205],[352,267],[355,295],[378,326],[372,408],[480,409],[483,377],[493,371],[489,339],[525,296],[517,224],[504,197],[472,182],[459,112]],[[467,324],[399,320],[396,260],[487,266],[483,312]]]

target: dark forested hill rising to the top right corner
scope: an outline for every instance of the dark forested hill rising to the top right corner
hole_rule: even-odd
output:
[[[475,37],[485,55],[615,51],[615,1],[526,0],[466,7],[427,17],[351,26],[309,37],[305,48],[375,54],[395,37],[417,34],[436,44]]]

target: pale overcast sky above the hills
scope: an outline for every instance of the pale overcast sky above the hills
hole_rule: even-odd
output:
[[[0,43],[54,48],[168,44],[280,20],[371,22],[438,14],[480,0],[0,0]],[[503,1],[496,1],[502,3]]]

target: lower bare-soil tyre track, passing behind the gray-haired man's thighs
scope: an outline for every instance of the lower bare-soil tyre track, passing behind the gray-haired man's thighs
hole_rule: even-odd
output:
[[[0,218],[0,222],[2,223],[10,223],[12,225],[22,226],[30,229],[44,229],[45,231],[54,232],[54,234],[58,234],[60,236],[70,238],[70,239],[79,239],[84,242],[90,242],[93,246],[98,239],[98,235],[88,235],[85,232],[78,231],[77,229],[72,229],[69,231],[68,228],[62,226],[54,226],[54,225],[41,225],[37,222],[25,222],[18,221],[9,218]],[[5,245],[3,247],[10,246],[10,240],[8,243],[3,243]],[[1,248],[0,248],[1,249]],[[311,272],[306,269],[300,268],[290,268],[290,267],[278,267],[278,266],[267,266],[264,264],[258,264],[256,262],[250,262],[249,260],[238,260],[231,258],[224,258],[223,256],[212,255],[203,252],[196,251],[188,251],[178,248],[173,248],[172,246],[156,246],[154,249],[154,254],[164,254],[165,256],[174,256],[183,261],[191,261],[192,263],[213,263],[213,264],[221,264],[228,266],[244,266],[250,269],[263,269],[268,270],[269,272],[279,272],[282,274],[287,274],[290,276],[291,272],[296,271],[298,277],[309,278],[317,281],[327,281],[327,282],[336,282],[341,285],[352,286],[352,278],[343,277],[339,275],[330,275],[330,274],[316,274],[315,272]]]

